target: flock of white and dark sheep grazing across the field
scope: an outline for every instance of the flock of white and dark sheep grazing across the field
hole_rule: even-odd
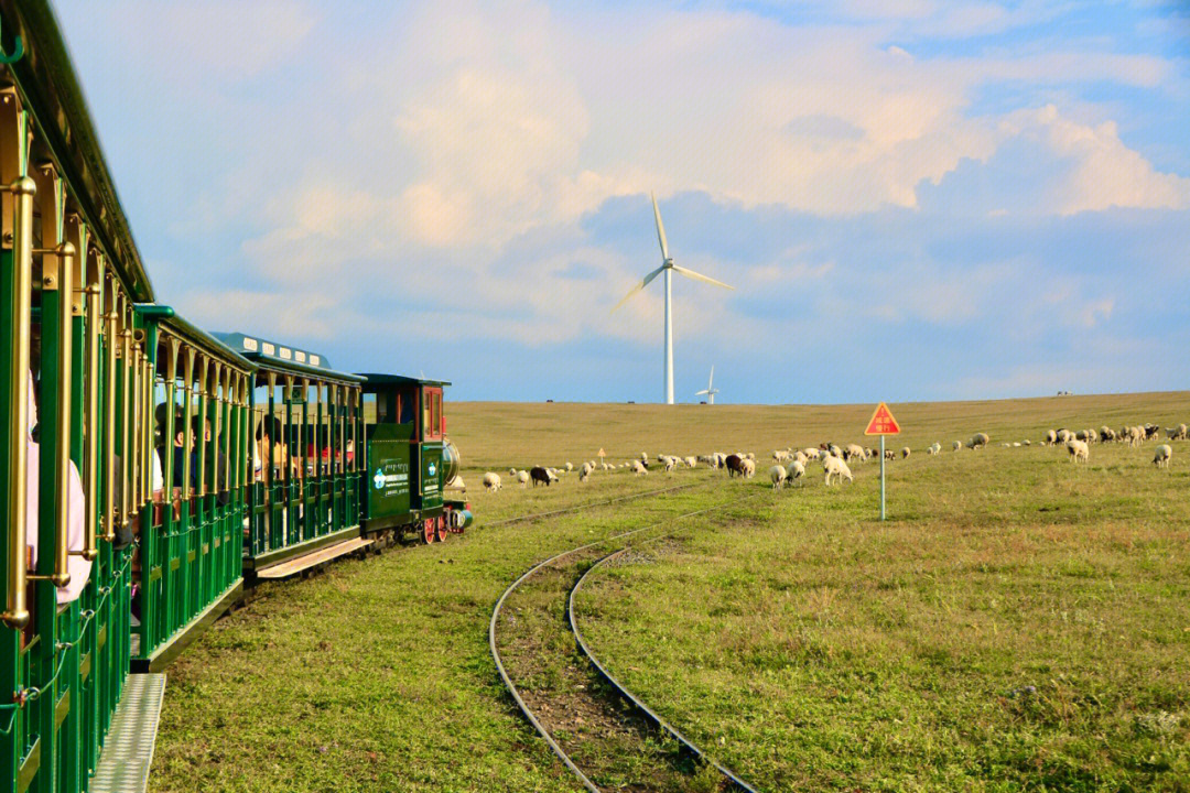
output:
[[[1159,439],[1160,430],[1161,428],[1157,424],[1122,427],[1119,430],[1114,430],[1106,426],[1097,430],[1051,429],[1045,433],[1040,443],[1041,446],[1063,447],[1066,449],[1066,453],[1073,462],[1086,462],[1090,459],[1090,446],[1092,443],[1119,442],[1136,447],[1144,445],[1146,441]],[[1165,435],[1170,441],[1190,439],[1190,432],[1188,432],[1185,424],[1166,427]],[[951,443],[951,449],[954,452],[963,448],[977,451],[987,447],[990,443],[990,440],[991,439],[987,433],[976,433],[967,439],[965,443],[963,441],[954,441]],[[1006,441],[1001,443],[1001,446],[1004,447],[1021,447],[1031,445],[1032,442],[1028,439],[1023,441]],[[935,441],[926,448],[926,454],[940,454],[941,451],[942,445]],[[913,449],[906,446],[901,448],[900,457],[901,459],[904,459],[912,453]],[[888,460],[895,460],[897,459],[897,455],[898,453],[894,449],[885,449],[884,452],[884,457]],[[769,468],[769,479],[772,482],[774,489],[783,487],[787,484],[796,484],[800,479],[806,477],[808,465],[812,462],[819,462],[822,466],[825,480],[828,486],[832,482],[834,484],[841,484],[844,479],[847,482],[854,482],[851,473],[851,465],[877,458],[879,458],[879,452],[870,447],[860,446],[859,443],[847,443],[846,446],[840,447],[835,443],[827,442],[821,443],[818,447],[788,447],[784,449],[777,449],[772,453],[774,465]],[[1160,468],[1166,468],[1169,467],[1172,458],[1173,447],[1170,446],[1170,443],[1160,443],[1153,455],[1153,465]],[[713,452],[710,454],[696,457],[682,457],[663,453],[657,455],[656,464],[666,473],[671,473],[679,467],[694,468],[699,465],[706,465],[713,470],[727,471],[731,477],[739,476],[744,479],[751,479],[756,476],[756,455],[751,452],[735,452],[731,454]],[[649,454],[641,452],[639,459],[634,458],[619,464],[587,460],[577,468],[578,482],[587,482],[596,471],[618,470],[627,470],[635,476],[647,476],[650,472]],[[536,487],[538,485],[550,486],[556,482],[560,482],[563,477],[566,477],[575,471],[575,466],[566,462],[559,467],[546,467],[540,465],[526,470],[518,470],[513,467],[508,470],[508,476],[521,487],[528,487],[530,483],[532,483]],[[465,487],[462,479],[458,479],[452,484],[457,487]],[[497,491],[503,486],[503,479],[499,473],[488,471],[483,474],[483,486],[489,491]]]

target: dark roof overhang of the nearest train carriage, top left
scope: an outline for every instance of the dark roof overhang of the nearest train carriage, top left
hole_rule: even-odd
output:
[[[154,300],[152,283],[140,262],[115,184],[99,145],[87,100],[54,11],[45,0],[0,0],[5,52],[21,38],[24,55],[7,67],[25,109],[99,247],[133,300]],[[33,152],[35,157],[46,152]]]

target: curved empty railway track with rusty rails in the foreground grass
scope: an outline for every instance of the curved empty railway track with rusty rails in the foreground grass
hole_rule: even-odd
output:
[[[670,536],[676,521],[758,496],[683,512],[564,550],[526,571],[496,602],[488,625],[488,643],[500,676],[528,722],[587,791],[602,793],[602,785],[607,789],[640,793],[696,789],[756,793],[597,663],[576,630],[574,592],[597,564],[633,543]],[[619,549],[609,554],[609,546]]]

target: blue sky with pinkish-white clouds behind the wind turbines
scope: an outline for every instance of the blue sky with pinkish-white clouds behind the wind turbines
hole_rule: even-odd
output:
[[[1190,388],[1190,6],[56,0],[162,303],[452,399]]]

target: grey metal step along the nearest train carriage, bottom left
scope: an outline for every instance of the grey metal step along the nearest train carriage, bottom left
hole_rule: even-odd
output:
[[[164,697],[163,673],[129,675],[124,697],[112,717],[104,754],[99,757],[99,768],[90,781],[92,793],[144,793],[149,789],[149,768]]]

